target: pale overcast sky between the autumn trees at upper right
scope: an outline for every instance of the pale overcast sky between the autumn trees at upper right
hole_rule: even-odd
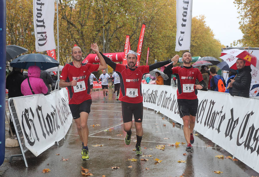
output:
[[[199,15],[205,16],[207,26],[222,45],[230,46],[230,43],[242,38],[237,18],[239,14],[233,0],[193,0],[192,16]]]

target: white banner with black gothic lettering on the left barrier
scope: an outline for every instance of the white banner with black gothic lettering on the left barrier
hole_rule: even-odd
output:
[[[65,88],[43,94],[13,98],[25,146],[37,157],[66,135],[72,114]]]

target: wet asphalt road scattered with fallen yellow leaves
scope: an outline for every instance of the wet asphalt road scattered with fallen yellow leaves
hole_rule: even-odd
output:
[[[123,121],[121,114],[121,102],[115,100],[115,94],[109,89],[106,100],[103,100],[102,91],[92,93],[92,106],[88,119],[89,128],[89,155],[88,161],[81,161],[81,141],[79,139],[76,125],[73,122],[68,130],[66,140],[61,140],[35,157],[31,152],[25,153],[28,168],[20,157],[15,157],[9,163],[12,154],[19,154],[20,148],[6,148],[5,161],[0,166],[0,176],[82,176],[81,166],[89,169],[93,176],[106,177],[151,177],[151,176],[181,176],[204,177],[204,176],[259,176],[257,172],[246,166],[241,161],[231,159],[219,159],[216,155],[230,155],[219,146],[215,146],[207,138],[197,133],[193,144],[193,153],[185,151],[186,144],[170,146],[178,142],[185,142],[183,130],[180,124],[173,125],[173,121],[164,118],[160,113],[144,108],[142,138],[143,155],[152,157],[136,156],[133,149],[136,145],[136,130],[132,128],[132,141],[125,145]],[[9,112],[7,112],[9,115]],[[90,126],[99,124],[100,126]],[[6,138],[8,124],[6,124]],[[104,131],[108,130],[108,131]],[[94,147],[94,145],[103,145]],[[165,145],[165,150],[156,149],[156,145]],[[146,149],[145,149],[146,148]],[[183,154],[187,155],[184,156]],[[60,155],[55,155],[60,154]],[[61,159],[68,159],[61,161]],[[135,158],[137,161],[129,161]],[[158,158],[161,163],[154,161]],[[148,159],[142,161],[140,159]],[[178,163],[184,160],[186,163]],[[119,169],[112,169],[112,167]],[[132,166],[129,168],[128,166]],[[49,168],[51,171],[43,174],[42,170]],[[214,174],[214,171],[221,171],[221,174]]]

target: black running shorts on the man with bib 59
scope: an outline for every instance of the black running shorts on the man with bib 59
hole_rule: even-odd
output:
[[[198,109],[198,99],[189,100],[189,99],[177,99],[178,110],[180,117],[183,116],[196,116]]]

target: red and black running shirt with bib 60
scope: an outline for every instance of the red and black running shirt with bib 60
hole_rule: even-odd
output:
[[[125,65],[116,64],[115,71],[119,72],[120,76],[119,100],[127,103],[141,103],[143,101],[141,79],[144,74],[149,73],[149,66],[138,66],[136,69],[131,69]]]

